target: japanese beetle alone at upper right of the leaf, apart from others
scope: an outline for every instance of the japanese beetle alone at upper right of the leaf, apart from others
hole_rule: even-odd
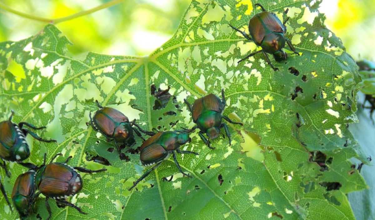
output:
[[[261,7],[263,12],[254,15],[254,17],[252,17],[249,21],[248,28],[251,37],[244,31],[240,31],[229,24],[234,30],[240,32],[246,39],[254,41],[257,46],[261,46],[262,48],[260,51],[247,55],[245,58],[238,61],[238,63],[248,59],[251,56],[254,56],[255,54],[263,53],[266,61],[270,64],[273,70],[276,71],[278,68],[275,68],[272,65],[267,53],[272,54],[275,60],[278,62],[284,61],[287,59],[287,53],[285,53],[282,49],[285,47],[285,43],[287,43],[291,51],[299,55],[292,45],[292,42],[284,36],[284,34],[287,32],[285,23],[287,23],[289,17],[285,19],[284,22],[281,22],[275,13],[267,12],[261,4],[257,3],[254,5],[254,7],[256,6]],[[285,14],[287,13],[288,9],[285,10]]]

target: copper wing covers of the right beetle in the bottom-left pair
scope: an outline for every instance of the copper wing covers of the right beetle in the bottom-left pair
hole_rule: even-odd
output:
[[[72,179],[72,169],[60,163],[46,165],[39,190],[45,196],[65,195]]]

